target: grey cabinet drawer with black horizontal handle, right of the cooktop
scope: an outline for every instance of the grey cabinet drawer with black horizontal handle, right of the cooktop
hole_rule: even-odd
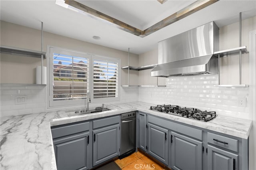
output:
[[[207,133],[208,143],[238,152],[238,140],[214,133]]]

